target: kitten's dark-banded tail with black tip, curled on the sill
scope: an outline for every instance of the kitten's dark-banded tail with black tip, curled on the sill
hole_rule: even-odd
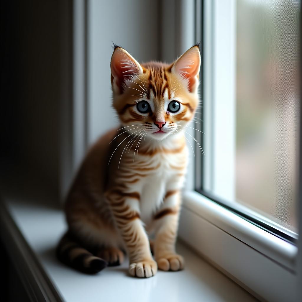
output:
[[[104,259],[92,255],[72,239],[69,233],[60,240],[56,256],[64,264],[86,274],[96,274],[107,266]]]

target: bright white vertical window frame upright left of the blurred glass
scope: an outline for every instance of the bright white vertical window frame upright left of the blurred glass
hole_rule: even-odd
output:
[[[203,161],[203,173],[210,175],[204,179],[204,189],[215,191],[226,200],[235,200],[236,1],[217,4],[217,1],[204,1],[207,16],[204,22],[204,70],[211,72],[209,77],[201,77],[206,93],[203,110],[207,117],[202,117],[207,156]],[[215,147],[219,145],[223,145],[223,152]]]

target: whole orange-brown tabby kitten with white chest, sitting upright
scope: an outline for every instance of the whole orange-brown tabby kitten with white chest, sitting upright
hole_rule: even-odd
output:
[[[198,106],[200,62],[198,45],[170,65],[140,64],[114,47],[111,85],[121,127],[92,146],[72,184],[61,261],[96,273],[121,264],[126,251],[132,276],[183,269],[175,252],[188,160],[183,130]]]

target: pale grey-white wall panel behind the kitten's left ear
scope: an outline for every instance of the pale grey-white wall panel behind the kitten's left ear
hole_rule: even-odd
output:
[[[88,2],[88,144],[118,125],[111,108],[112,42],[138,61],[159,60],[159,0]]]

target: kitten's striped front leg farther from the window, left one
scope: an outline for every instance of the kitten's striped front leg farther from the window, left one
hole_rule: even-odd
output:
[[[149,239],[140,220],[139,194],[119,194],[113,191],[107,196],[110,196],[110,199],[114,198],[114,200],[108,199],[116,225],[127,248],[130,275],[141,278],[154,276],[157,272],[157,264],[152,258]]]

